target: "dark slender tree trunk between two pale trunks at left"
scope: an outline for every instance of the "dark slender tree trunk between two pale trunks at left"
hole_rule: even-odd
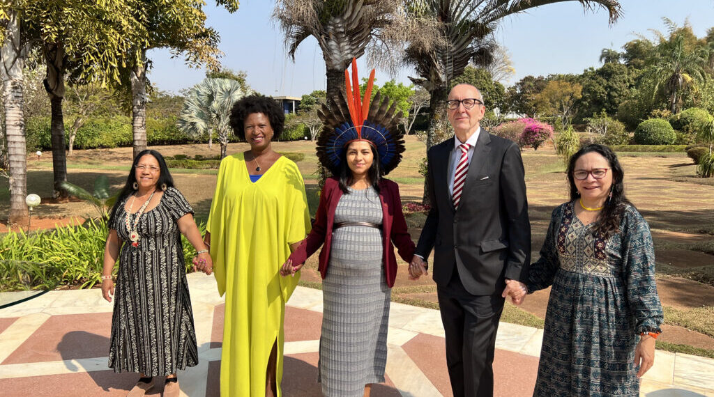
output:
[[[51,106],[51,144],[52,144],[52,175],[54,197],[68,196],[62,182],[67,180],[67,158],[64,143],[64,117],[62,115],[62,100],[64,100],[64,46],[62,43],[45,43],[44,56],[47,63],[47,75],[44,88],[49,95]]]

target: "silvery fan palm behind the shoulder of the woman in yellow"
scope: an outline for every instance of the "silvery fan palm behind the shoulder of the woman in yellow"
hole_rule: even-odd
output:
[[[238,81],[229,78],[204,78],[188,91],[178,115],[178,130],[189,138],[210,135],[213,130],[221,143],[221,158],[226,157],[228,134],[231,133],[231,108],[236,100],[248,95]]]

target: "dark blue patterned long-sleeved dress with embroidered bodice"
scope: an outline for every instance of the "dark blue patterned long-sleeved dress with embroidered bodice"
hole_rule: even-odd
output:
[[[553,210],[528,291],[553,286],[533,396],[639,396],[635,346],[660,331],[650,228],[628,206],[620,231],[593,235],[573,205]]]

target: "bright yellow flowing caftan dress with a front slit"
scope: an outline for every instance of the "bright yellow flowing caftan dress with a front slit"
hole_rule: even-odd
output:
[[[299,277],[278,269],[310,231],[310,215],[291,160],[278,158],[256,182],[248,175],[243,153],[223,159],[206,226],[218,293],[226,294],[221,396],[263,396],[276,341],[281,396],[285,302]]]

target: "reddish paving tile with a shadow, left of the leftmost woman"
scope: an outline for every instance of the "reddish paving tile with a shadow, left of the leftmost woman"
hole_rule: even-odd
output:
[[[2,364],[106,357],[110,335],[111,313],[51,316]]]

